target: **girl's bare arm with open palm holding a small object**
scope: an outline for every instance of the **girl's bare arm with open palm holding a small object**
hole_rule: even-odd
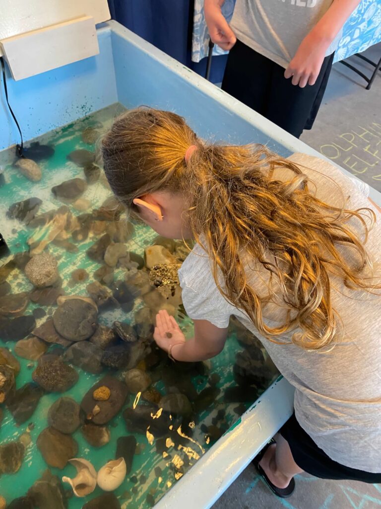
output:
[[[185,340],[176,320],[167,311],[156,315],[153,338],[160,348],[169,351],[175,360],[197,362],[219,354],[228,336],[228,327],[220,329],[207,320],[194,320],[195,337]]]

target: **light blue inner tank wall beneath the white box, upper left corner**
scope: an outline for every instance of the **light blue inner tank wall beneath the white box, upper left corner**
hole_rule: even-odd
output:
[[[99,30],[98,40],[99,55],[20,81],[13,80],[7,66],[9,102],[24,140],[117,102],[110,30]],[[20,135],[9,113],[2,82],[0,150],[19,141]]]

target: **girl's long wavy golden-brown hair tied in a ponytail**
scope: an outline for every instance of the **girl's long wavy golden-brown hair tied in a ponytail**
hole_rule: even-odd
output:
[[[197,150],[185,163],[190,145]],[[308,190],[299,166],[264,146],[208,144],[182,117],[141,107],[114,121],[101,152],[112,190],[132,212],[137,212],[134,198],[144,194],[184,194],[190,228],[210,256],[219,291],[274,343],[297,328],[301,332],[293,333],[292,342],[299,347],[317,350],[335,343],[339,317],[332,307],[330,274],[353,290],[381,288],[365,270],[371,262],[363,242],[345,225],[356,218],[366,241],[365,214],[373,222],[374,212],[322,202]],[[278,167],[291,170],[291,180],[273,180]],[[355,262],[345,259],[343,246],[351,249],[352,259],[355,254]],[[277,327],[265,323],[266,302],[248,282],[247,259],[277,278],[288,309]]]

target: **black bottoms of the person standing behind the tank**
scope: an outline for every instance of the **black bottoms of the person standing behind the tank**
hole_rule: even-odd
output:
[[[300,88],[284,77],[283,67],[237,40],[228,56],[222,89],[299,138],[315,120],[333,55],[324,59],[315,84]]]

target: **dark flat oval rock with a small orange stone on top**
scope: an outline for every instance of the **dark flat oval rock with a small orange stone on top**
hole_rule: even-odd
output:
[[[110,389],[110,398],[106,401],[97,401],[93,398],[93,392],[98,387],[102,387],[102,385]],[[110,375],[106,375],[86,392],[81,402],[81,408],[88,415],[92,412],[94,406],[98,405],[100,412],[94,415],[91,421],[94,424],[103,425],[119,412],[127,394],[128,389],[123,382]]]

